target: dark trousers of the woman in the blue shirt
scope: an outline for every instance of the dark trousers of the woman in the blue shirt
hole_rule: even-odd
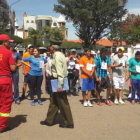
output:
[[[40,100],[42,81],[43,81],[43,76],[29,75],[31,100],[34,99],[35,89],[36,89],[36,92],[37,92],[38,100]]]

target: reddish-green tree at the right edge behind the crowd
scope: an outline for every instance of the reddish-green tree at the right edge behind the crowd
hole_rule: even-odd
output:
[[[140,16],[128,14],[127,18],[121,23],[114,22],[110,26],[110,34],[108,39],[114,41],[118,45],[120,42],[120,35],[122,31],[122,38],[127,44],[140,42]]]

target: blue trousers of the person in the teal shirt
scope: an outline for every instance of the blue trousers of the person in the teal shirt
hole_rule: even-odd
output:
[[[140,102],[140,79],[132,79],[132,100],[135,100],[135,92],[138,90],[138,101]]]

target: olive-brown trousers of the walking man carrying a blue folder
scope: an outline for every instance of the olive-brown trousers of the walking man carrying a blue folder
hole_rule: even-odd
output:
[[[49,124],[53,124],[57,117],[58,110],[60,110],[64,124],[73,125],[72,113],[65,92],[53,93],[50,98],[49,110],[45,121]]]

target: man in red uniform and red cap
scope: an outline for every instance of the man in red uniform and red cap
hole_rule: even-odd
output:
[[[7,130],[13,101],[11,71],[16,70],[13,53],[8,50],[8,35],[0,35],[0,133]]]

